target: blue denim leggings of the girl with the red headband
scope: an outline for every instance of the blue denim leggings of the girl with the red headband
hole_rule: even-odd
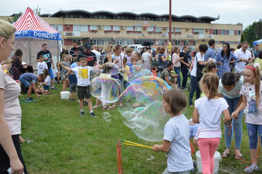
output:
[[[262,125],[247,123],[247,133],[249,138],[249,149],[258,148],[258,135],[262,134]]]

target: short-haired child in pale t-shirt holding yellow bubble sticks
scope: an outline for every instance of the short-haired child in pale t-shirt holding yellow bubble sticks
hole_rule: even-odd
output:
[[[167,168],[163,174],[189,174],[193,167],[189,145],[189,123],[181,113],[187,106],[187,97],[181,89],[166,90],[163,95],[163,107],[171,118],[165,124],[164,142],[154,145],[151,150],[167,153]]]

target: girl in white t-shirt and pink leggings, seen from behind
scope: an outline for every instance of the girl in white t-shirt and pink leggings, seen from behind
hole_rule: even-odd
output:
[[[206,96],[197,99],[194,106],[193,123],[199,123],[195,139],[198,140],[203,174],[213,174],[214,171],[214,154],[222,135],[221,114],[225,117],[225,124],[231,120],[226,100],[216,96],[218,85],[219,77],[216,74],[204,74],[199,87]]]

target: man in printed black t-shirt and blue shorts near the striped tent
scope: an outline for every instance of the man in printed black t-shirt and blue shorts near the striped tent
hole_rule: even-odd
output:
[[[49,50],[47,50],[47,45],[46,43],[44,43],[42,45],[42,50],[39,51],[39,53],[37,53],[37,57],[36,57],[36,61],[37,62],[40,62],[39,60],[39,55],[43,55],[44,56],[44,61],[46,62],[47,64],[47,68],[48,68],[48,72],[50,74],[50,77],[51,77],[51,86],[52,86],[52,89],[57,89],[54,87],[54,74],[53,74],[53,70],[51,68],[51,63],[53,65],[53,69],[54,69],[54,61],[53,61],[53,58],[52,58],[52,55],[50,53]]]

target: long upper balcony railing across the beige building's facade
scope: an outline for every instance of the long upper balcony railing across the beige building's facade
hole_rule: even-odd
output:
[[[163,39],[169,38],[167,32],[103,32],[103,31],[63,31],[65,38],[70,37],[105,37],[105,38],[154,38]],[[213,39],[213,34],[183,34],[183,33],[171,33],[172,39]]]

